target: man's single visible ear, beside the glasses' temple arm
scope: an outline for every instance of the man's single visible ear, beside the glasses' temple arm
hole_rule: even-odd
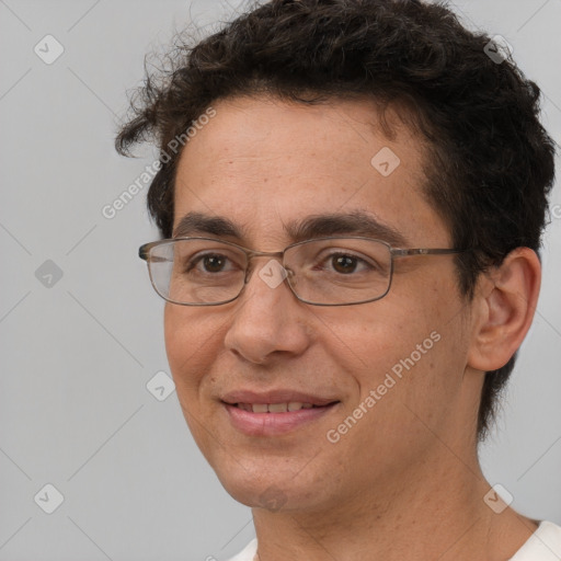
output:
[[[530,329],[540,283],[541,265],[529,248],[516,248],[482,275],[472,307],[469,366],[496,370],[511,359]]]

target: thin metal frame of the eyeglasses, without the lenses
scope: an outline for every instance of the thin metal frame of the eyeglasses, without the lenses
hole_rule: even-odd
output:
[[[245,256],[248,259],[248,267],[245,268],[245,276],[243,278],[243,285],[240,288],[240,291],[233,298],[230,298],[229,300],[222,300],[222,301],[219,301],[219,302],[208,302],[208,304],[207,302],[193,302],[193,304],[191,304],[191,302],[179,302],[179,301],[175,301],[175,300],[172,300],[170,298],[165,298],[164,296],[162,296],[160,294],[160,291],[158,290],[158,288],[156,287],[156,284],[154,284],[153,277],[152,277],[152,272],[150,270],[150,250],[152,248],[156,248],[158,245],[162,245],[164,243],[182,241],[182,240],[207,240],[207,241],[214,241],[214,242],[225,243],[227,245],[232,245],[232,247],[243,251],[243,253],[245,253]],[[312,301],[309,301],[309,300],[305,300],[304,298],[300,298],[296,294],[296,291],[293,288],[290,282],[288,280],[289,277],[290,277],[290,274],[294,274],[294,272],[291,270],[285,267],[285,264],[284,264],[285,253],[290,248],[295,248],[295,247],[301,245],[304,243],[310,243],[310,242],[314,242],[314,241],[324,241],[324,240],[367,240],[367,241],[375,241],[375,242],[378,242],[378,243],[381,243],[381,244],[386,245],[388,248],[388,250],[389,250],[390,257],[391,257],[388,288],[386,289],[386,291],[381,296],[377,296],[376,298],[369,298],[367,300],[360,300],[358,302],[350,302],[350,304],[318,304],[318,302],[312,302]],[[251,260],[253,257],[261,257],[261,256],[280,257],[283,268],[287,273],[287,277],[286,277],[286,280],[288,280],[287,285],[290,288],[290,291],[294,294],[294,296],[299,301],[301,301],[304,304],[311,305],[311,306],[356,306],[358,304],[368,304],[368,302],[374,302],[376,300],[380,300],[381,298],[383,298],[390,291],[391,282],[392,282],[392,278],[393,278],[393,260],[396,257],[407,257],[407,256],[411,256],[411,255],[451,255],[451,254],[465,253],[466,251],[467,250],[459,250],[459,249],[454,249],[454,248],[392,248],[391,244],[389,244],[388,242],[386,242],[383,240],[378,240],[376,238],[368,238],[368,237],[364,237],[364,236],[327,236],[327,237],[322,237],[322,238],[311,238],[309,240],[304,240],[304,241],[298,241],[296,243],[291,243],[290,245],[287,245],[283,251],[256,251],[256,250],[250,250],[249,248],[244,248],[243,245],[240,245],[239,243],[234,243],[234,242],[226,241],[226,240],[220,240],[220,239],[217,239],[217,238],[185,237],[185,238],[167,238],[167,239],[162,239],[162,240],[158,240],[158,241],[152,241],[152,242],[144,243],[138,249],[138,256],[141,260],[147,262],[148,275],[150,276],[150,283],[151,283],[153,289],[156,290],[156,293],[158,294],[158,296],[163,298],[165,301],[168,301],[170,304],[175,304],[178,306],[221,306],[224,304],[229,304],[229,302],[236,300],[243,293],[243,289],[245,288],[245,285],[248,284],[248,274],[249,274],[249,271],[250,271]]]

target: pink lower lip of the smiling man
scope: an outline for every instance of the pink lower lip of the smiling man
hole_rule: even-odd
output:
[[[230,403],[224,403],[232,426],[249,436],[273,436],[289,433],[311,423],[330,411],[337,403],[321,408],[300,409],[286,413],[252,413]]]

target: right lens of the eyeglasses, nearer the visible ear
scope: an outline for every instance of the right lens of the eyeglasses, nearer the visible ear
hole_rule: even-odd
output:
[[[286,252],[288,278],[298,297],[310,304],[348,305],[381,298],[389,289],[391,253],[374,240],[313,240]]]

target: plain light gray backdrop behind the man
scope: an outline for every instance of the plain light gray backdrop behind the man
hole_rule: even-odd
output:
[[[147,389],[169,370],[163,301],[137,257],[157,239],[146,187],[113,219],[101,211],[152,161],[149,147],[136,160],[113,150],[145,53],[232,5],[0,0],[0,560],[221,560],[253,536],[251,511],[220,486],[176,394]],[[512,44],[560,144],[561,0],[453,5]],[[47,34],[65,48],[50,65],[34,53]],[[559,185],[552,204],[536,320],[482,463],[515,508],[561,524]],[[64,495],[53,514],[47,483]]]

